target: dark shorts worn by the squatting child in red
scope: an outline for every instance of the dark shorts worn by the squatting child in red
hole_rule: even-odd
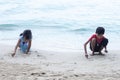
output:
[[[106,47],[107,44],[108,44],[108,39],[107,39],[107,38],[104,38],[101,43],[98,43],[98,42],[96,41],[94,51],[95,51],[95,52],[99,52],[103,47]],[[92,51],[91,42],[90,42],[90,49],[91,49],[91,51]]]

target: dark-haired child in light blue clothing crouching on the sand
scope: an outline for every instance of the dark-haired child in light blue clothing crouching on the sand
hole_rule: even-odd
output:
[[[14,57],[16,54],[16,50],[19,47],[20,50],[23,53],[28,54],[30,48],[31,48],[31,43],[32,43],[32,32],[31,30],[24,30],[23,33],[20,34],[20,39],[17,42],[17,45],[15,46],[14,53],[12,56]]]

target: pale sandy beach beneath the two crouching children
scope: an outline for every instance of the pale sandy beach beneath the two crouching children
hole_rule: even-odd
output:
[[[119,51],[105,56],[84,57],[84,52],[19,50],[11,57],[14,46],[0,45],[0,80],[119,80]]]

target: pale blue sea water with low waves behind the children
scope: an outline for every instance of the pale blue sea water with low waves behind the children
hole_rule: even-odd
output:
[[[120,0],[0,0],[0,43],[16,45],[31,29],[32,50],[83,51],[98,26],[108,49],[120,46]]]

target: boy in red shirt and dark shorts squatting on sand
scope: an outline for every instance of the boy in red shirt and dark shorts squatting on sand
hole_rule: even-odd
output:
[[[92,56],[94,56],[95,52],[99,52],[99,55],[102,54],[102,49],[105,48],[105,52],[107,53],[107,44],[108,39],[105,38],[103,35],[105,33],[105,29],[103,27],[98,27],[96,29],[96,33],[91,36],[91,38],[84,44],[84,50],[85,50],[85,57],[88,58],[87,49],[86,46],[90,42],[90,49],[92,51]]]

